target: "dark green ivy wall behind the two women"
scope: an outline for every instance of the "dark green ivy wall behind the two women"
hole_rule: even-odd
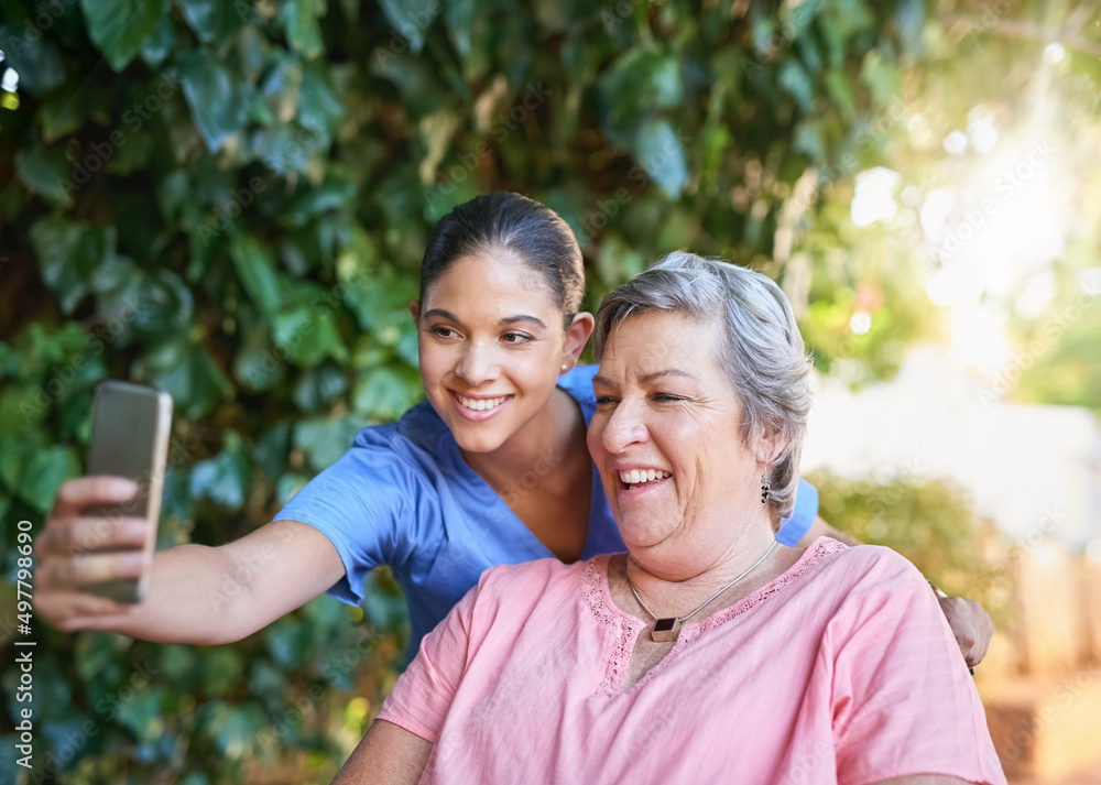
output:
[[[19,75],[0,92],[3,542],[80,472],[105,378],[175,402],[162,547],[266,523],[421,397],[424,242],[487,190],[570,222],[590,306],[690,248],[781,280],[824,366],[891,373],[931,306],[903,294],[904,257],[854,232],[851,176],[905,130],[918,66],[956,62],[940,15],[972,10],[0,0]],[[853,338],[860,307],[874,327]],[[4,568],[12,608],[10,549]],[[327,781],[404,643],[393,581],[368,589],[358,611],[320,598],[210,650],[36,625],[34,781]]]

